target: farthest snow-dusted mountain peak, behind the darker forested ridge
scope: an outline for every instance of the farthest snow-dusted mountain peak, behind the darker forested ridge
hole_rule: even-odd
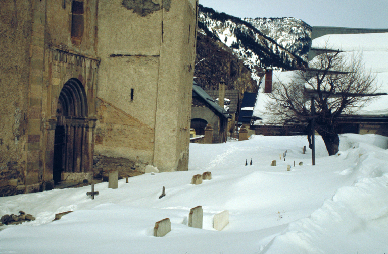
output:
[[[264,35],[288,51],[307,60],[312,27],[297,18],[245,18]]]

